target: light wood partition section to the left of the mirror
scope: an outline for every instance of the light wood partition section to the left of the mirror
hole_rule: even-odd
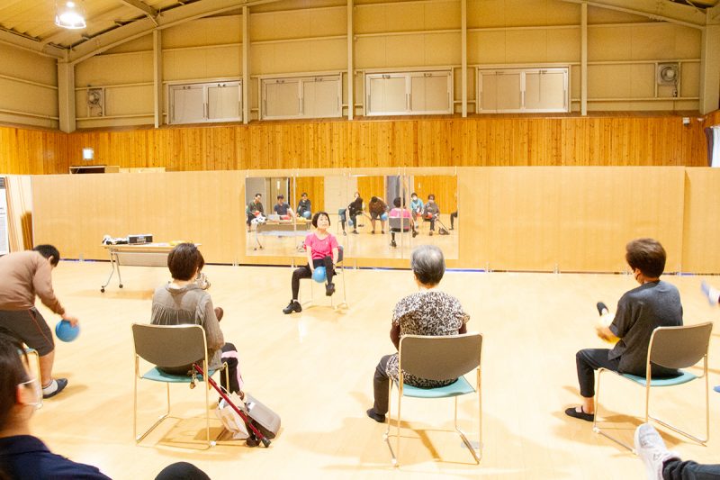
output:
[[[152,233],[202,243],[208,262],[245,251],[241,172],[176,172],[32,178],[34,239],[64,258],[107,259],[103,235]]]

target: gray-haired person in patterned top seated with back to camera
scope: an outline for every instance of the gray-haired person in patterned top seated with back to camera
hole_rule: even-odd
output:
[[[420,245],[412,250],[410,267],[419,292],[403,298],[392,312],[390,339],[395,349],[400,349],[403,335],[444,336],[466,333],[470,315],[463,311],[463,306],[454,296],[436,289],[445,274],[443,252],[435,245]],[[398,376],[398,354],[381,358],[375,367],[373,379],[375,403],[367,411],[367,416],[374,421],[385,421],[389,383],[391,378],[397,379]],[[404,373],[403,377],[406,384],[425,388],[450,385],[457,380],[428,380],[408,373]]]

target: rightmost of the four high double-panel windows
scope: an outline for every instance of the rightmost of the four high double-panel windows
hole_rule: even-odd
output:
[[[478,68],[478,113],[569,112],[568,68]]]

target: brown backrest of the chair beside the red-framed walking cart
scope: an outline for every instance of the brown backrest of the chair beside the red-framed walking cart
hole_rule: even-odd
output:
[[[205,358],[207,343],[200,325],[132,324],[135,354],[161,367],[183,367]]]

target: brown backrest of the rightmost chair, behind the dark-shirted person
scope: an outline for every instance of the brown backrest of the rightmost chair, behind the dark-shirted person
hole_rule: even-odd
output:
[[[667,368],[687,368],[707,355],[713,323],[682,327],[658,327],[650,337],[648,358]]]

